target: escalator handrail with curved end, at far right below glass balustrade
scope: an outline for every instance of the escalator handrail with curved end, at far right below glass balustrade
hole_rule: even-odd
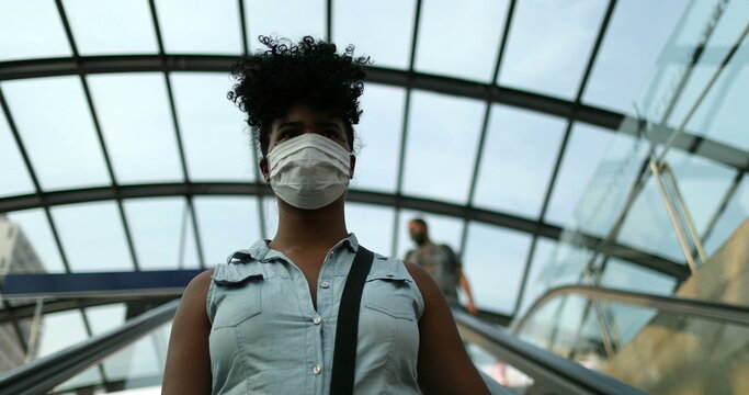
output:
[[[652,307],[660,312],[686,315],[695,318],[716,320],[724,324],[749,326],[749,306],[734,305],[722,302],[702,301],[679,296],[663,296],[648,293],[615,290],[587,285],[565,285],[547,291],[538,297],[531,308],[511,326],[511,331],[518,335],[533,317],[536,311],[546,302],[564,295],[579,294],[590,298],[602,298],[610,302],[633,306]]]

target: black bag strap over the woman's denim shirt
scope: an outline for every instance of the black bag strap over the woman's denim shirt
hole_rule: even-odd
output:
[[[359,246],[343,286],[343,296],[338,305],[336,347],[330,380],[331,395],[350,395],[354,392],[356,368],[356,340],[359,339],[359,307],[374,253]]]

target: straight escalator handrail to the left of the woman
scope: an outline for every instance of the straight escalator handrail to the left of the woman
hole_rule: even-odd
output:
[[[0,395],[46,394],[77,373],[122,350],[174,317],[179,300],[122,326],[0,374]]]

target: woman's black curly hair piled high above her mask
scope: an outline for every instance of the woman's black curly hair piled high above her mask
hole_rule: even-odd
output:
[[[290,108],[305,104],[347,124],[347,136],[353,149],[353,127],[362,111],[359,98],[364,92],[363,66],[368,57],[354,57],[354,46],[337,54],[336,44],[305,36],[298,44],[288,38],[260,36],[269,49],[242,57],[231,76],[238,81],[228,99],[247,112],[263,157],[268,155],[269,136],[274,119]]]

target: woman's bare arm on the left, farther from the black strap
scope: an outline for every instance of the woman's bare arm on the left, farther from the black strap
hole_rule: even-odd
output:
[[[205,309],[213,269],[197,274],[184,290],[169,338],[161,394],[209,394],[211,321]]]

